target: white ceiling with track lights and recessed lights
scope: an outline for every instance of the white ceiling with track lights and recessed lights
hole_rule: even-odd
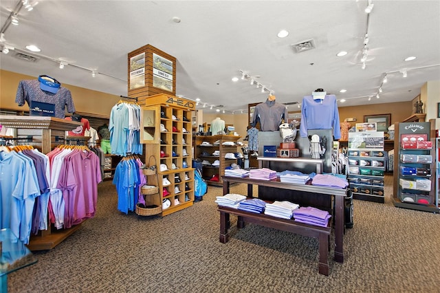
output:
[[[19,1],[1,0],[0,25]],[[32,3],[32,1],[31,1]],[[20,74],[47,74],[62,84],[127,95],[127,54],[151,44],[177,58],[176,95],[199,107],[246,110],[267,97],[239,70],[272,89],[278,102],[301,102],[323,88],[340,107],[412,100],[429,80],[440,80],[440,1],[373,1],[366,69],[360,58],[367,30],[365,0],[351,1],[50,1],[5,30],[16,48],[0,54],[0,67]],[[179,17],[175,23],[173,17]],[[289,30],[280,39],[279,30]],[[291,45],[314,39],[316,49],[295,53]],[[25,49],[34,44],[41,52]],[[336,54],[345,50],[346,56]],[[15,52],[39,61],[14,58]],[[404,61],[417,56],[414,61]],[[67,61],[59,69],[54,61]],[[311,65],[313,63],[313,65]],[[83,69],[78,68],[83,67]],[[91,77],[87,69],[99,74]],[[407,69],[403,78],[401,70]],[[388,83],[376,98],[382,78]],[[341,94],[340,89],[347,89]],[[373,96],[369,101],[369,96]],[[74,97],[75,98],[75,97]],[[298,110],[297,105],[289,106]]]

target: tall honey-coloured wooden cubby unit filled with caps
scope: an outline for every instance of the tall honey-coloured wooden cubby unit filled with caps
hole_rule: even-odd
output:
[[[166,94],[148,96],[144,101],[157,109],[157,143],[146,143],[145,154],[157,161],[160,199],[169,200],[162,208],[162,216],[166,216],[194,202],[192,139],[191,133],[184,131],[191,129],[190,101]]]

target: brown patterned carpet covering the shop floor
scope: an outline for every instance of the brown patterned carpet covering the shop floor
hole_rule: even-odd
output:
[[[201,202],[166,217],[124,215],[111,182],[99,185],[98,210],[38,262],[13,272],[9,292],[440,292],[440,215],[354,200],[344,263],[329,252],[318,274],[318,241],[248,225],[219,242],[209,186]],[[244,184],[232,193],[246,194]]]

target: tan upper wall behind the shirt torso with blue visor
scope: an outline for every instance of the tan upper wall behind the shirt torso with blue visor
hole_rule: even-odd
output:
[[[19,107],[15,102],[17,87],[19,86],[20,80],[36,79],[38,76],[28,76],[0,70],[0,77],[0,108],[29,111],[27,104],[23,105],[23,107]],[[90,113],[91,116],[108,118],[110,116],[111,107],[120,100],[119,96],[106,94],[101,91],[94,91],[67,84],[62,84],[62,86],[71,92],[76,111],[80,113]]]

